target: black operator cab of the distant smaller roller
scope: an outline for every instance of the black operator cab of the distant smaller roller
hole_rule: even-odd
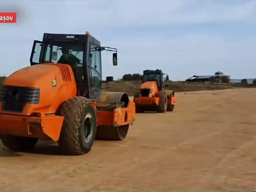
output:
[[[166,76],[164,78],[164,76]],[[142,83],[147,81],[155,81],[157,84],[157,88],[160,91],[163,91],[164,87],[164,80],[169,80],[169,76],[167,74],[164,74],[162,70],[156,69],[156,70],[144,70],[143,76],[142,76]]]

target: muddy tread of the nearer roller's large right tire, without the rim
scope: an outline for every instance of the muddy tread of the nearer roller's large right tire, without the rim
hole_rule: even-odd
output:
[[[64,116],[64,121],[58,144],[63,154],[83,155],[89,152],[82,150],[78,132],[83,109],[87,105],[92,105],[91,100],[77,96],[67,100],[60,109],[60,115]]]

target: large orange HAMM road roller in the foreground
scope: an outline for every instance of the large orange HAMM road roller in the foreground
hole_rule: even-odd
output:
[[[0,92],[0,139],[14,151],[38,140],[58,142],[66,155],[88,153],[95,139],[124,140],[135,120],[135,103],[125,92],[102,92],[101,47],[86,34],[44,33],[34,41],[30,66],[4,80]]]

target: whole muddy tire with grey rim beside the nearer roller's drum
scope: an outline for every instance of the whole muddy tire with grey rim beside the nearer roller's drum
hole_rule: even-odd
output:
[[[65,155],[88,153],[97,128],[96,110],[92,102],[84,97],[73,97],[61,106],[60,115],[64,116],[58,140],[61,152]]]

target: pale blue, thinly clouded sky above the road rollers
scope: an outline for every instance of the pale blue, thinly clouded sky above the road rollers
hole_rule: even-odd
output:
[[[102,46],[102,77],[162,69],[171,80],[222,71],[256,78],[255,0],[1,0],[17,24],[0,24],[0,75],[29,66],[44,33],[90,34]]]

